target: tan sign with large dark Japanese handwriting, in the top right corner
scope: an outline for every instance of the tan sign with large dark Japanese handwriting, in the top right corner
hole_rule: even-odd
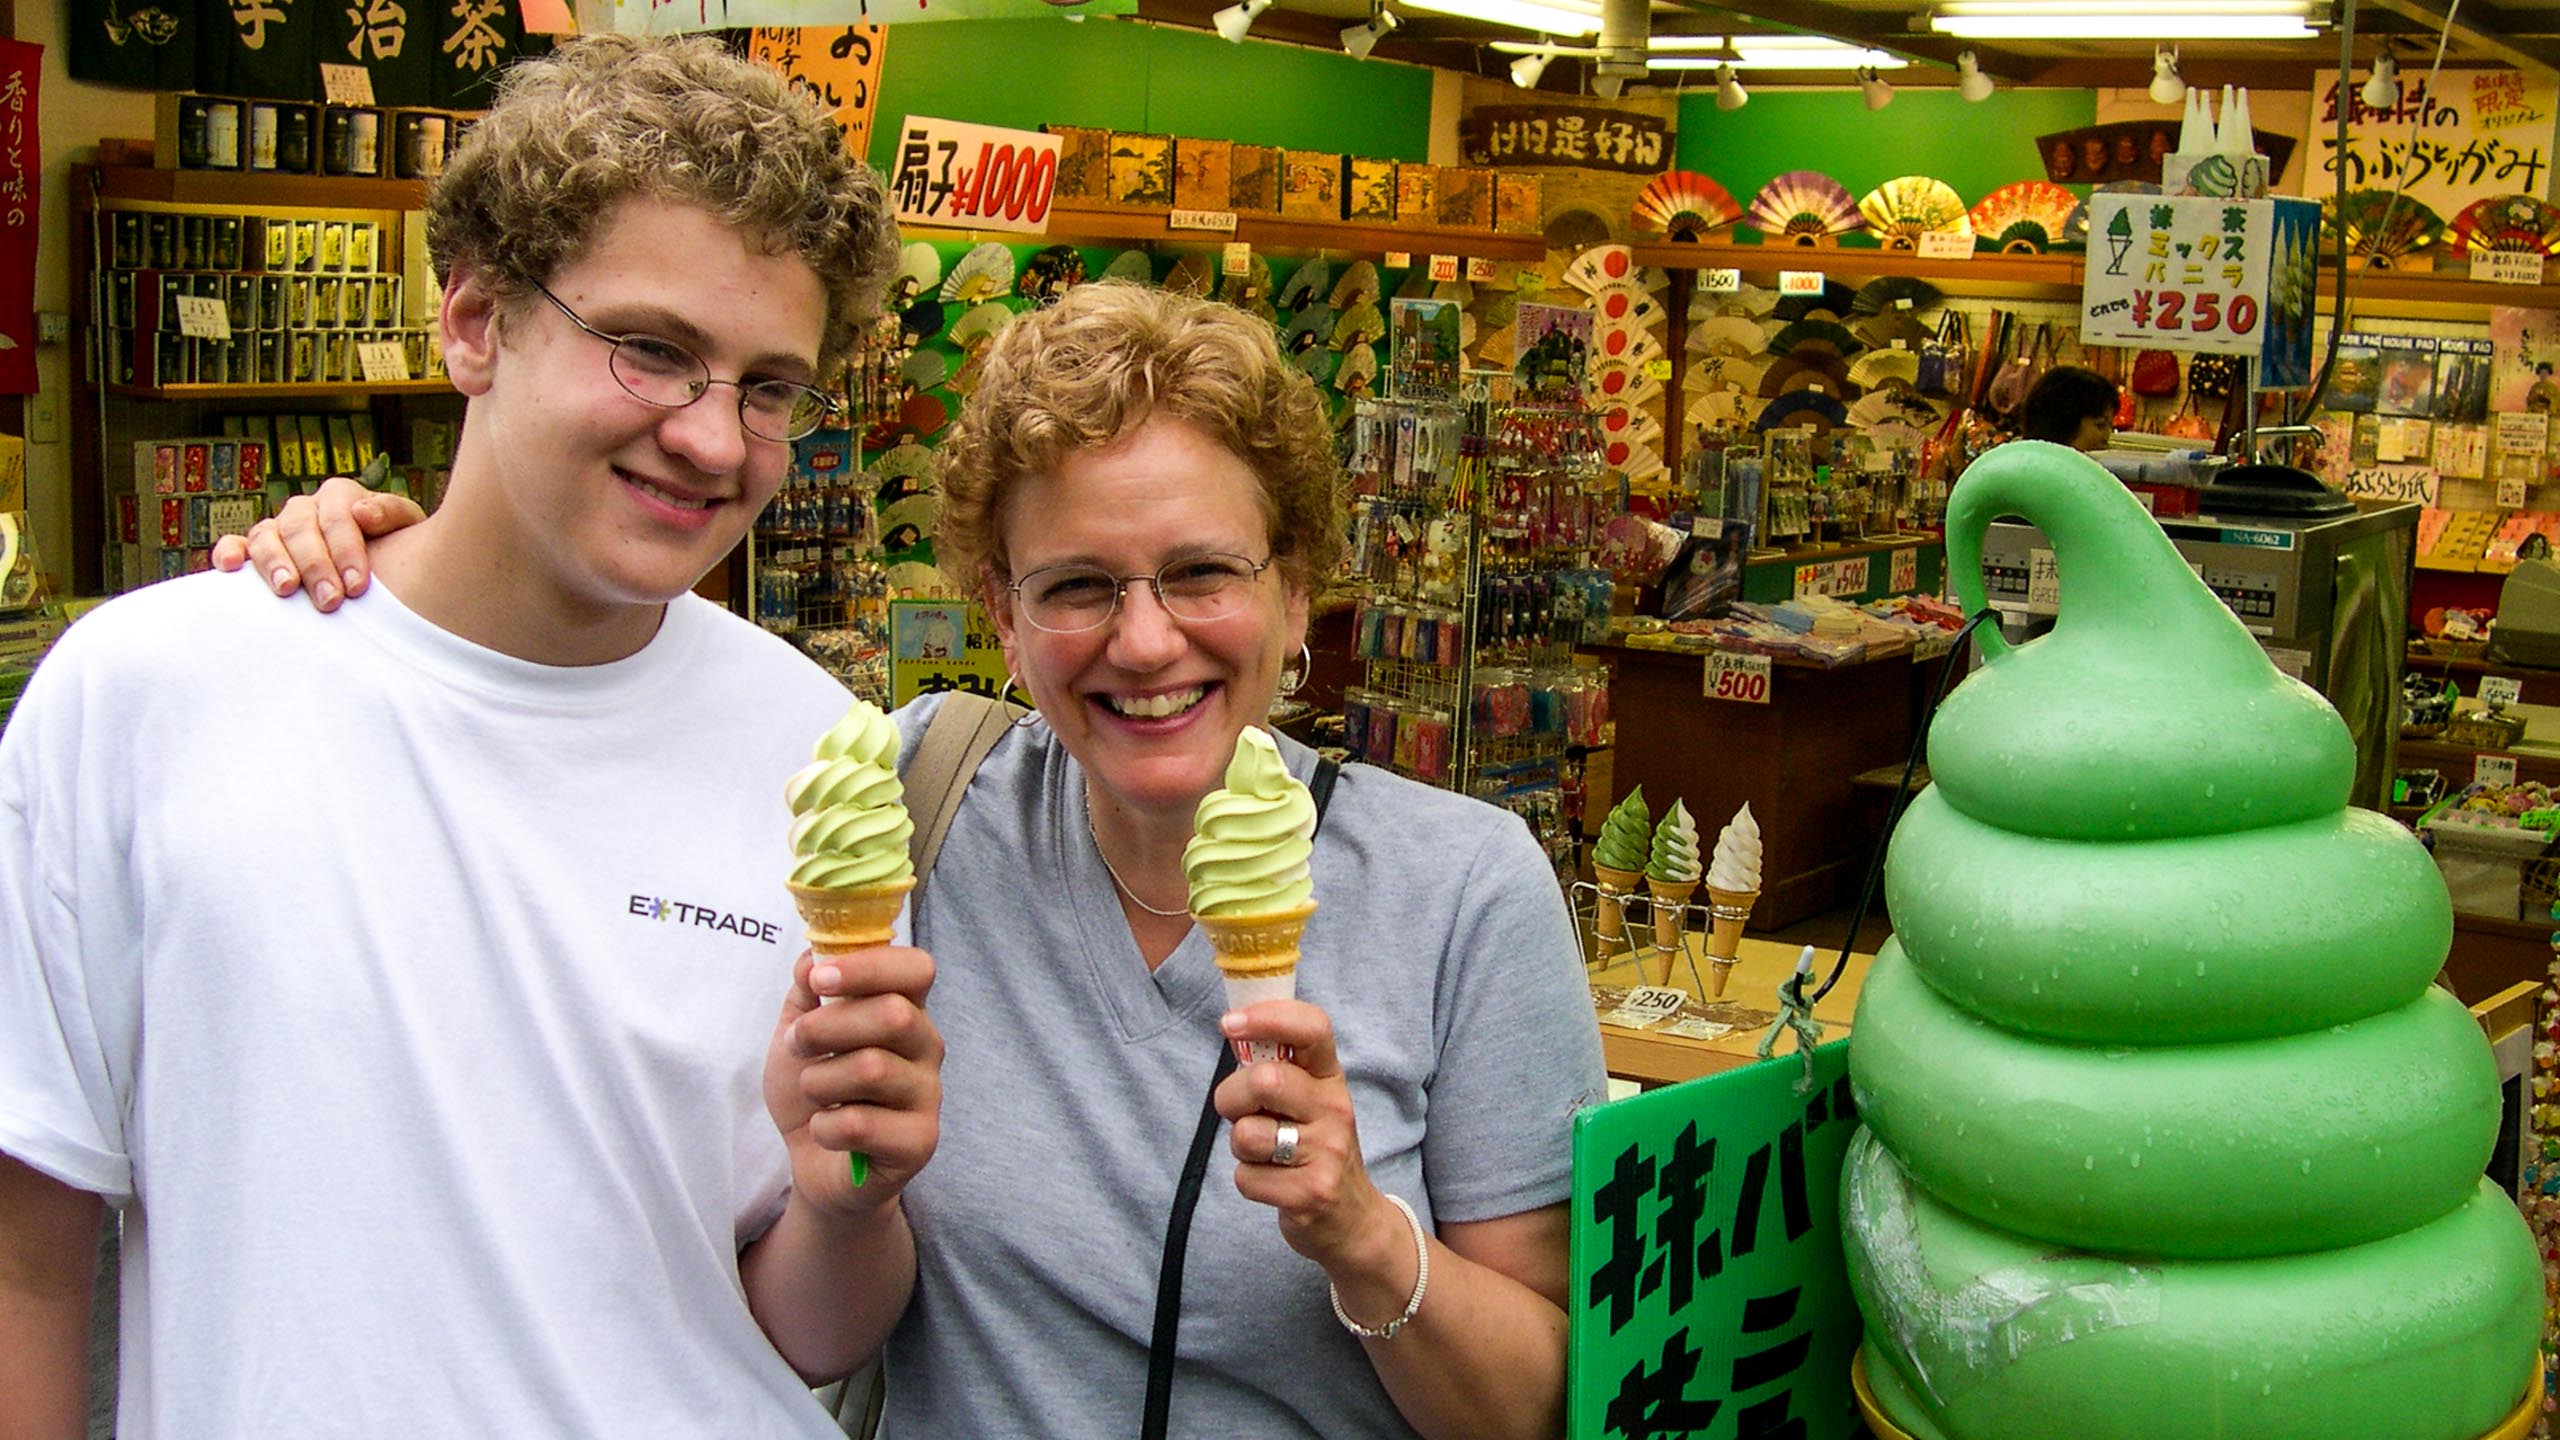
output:
[[[2383,110],[2363,102],[2368,77],[2312,77],[2309,141],[2319,161],[2301,177],[2304,195],[2330,195],[2345,169],[2348,190],[2401,190],[2442,218],[2491,195],[2550,195],[2552,115],[2560,85],[2522,69],[2422,67],[2399,77],[2399,100]],[[2348,149],[2337,149],[2337,105],[2348,105]]]

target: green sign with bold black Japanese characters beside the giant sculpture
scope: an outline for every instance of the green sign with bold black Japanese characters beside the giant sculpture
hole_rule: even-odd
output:
[[[1569,1440],[1848,1440],[1848,1040],[1574,1117]]]

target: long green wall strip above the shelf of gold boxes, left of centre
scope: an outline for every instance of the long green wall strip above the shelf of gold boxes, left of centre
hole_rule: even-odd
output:
[[[1431,159],[1428,69],[1108,18],[899,26],[870,131],[883,172],[904,115]]]

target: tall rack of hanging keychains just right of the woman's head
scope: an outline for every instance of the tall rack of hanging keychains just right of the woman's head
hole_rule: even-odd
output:
[[[1569,753],[1608,723],[1608,671],[1574,664],[1610,597],[1590,566],[1608,515],[1582,405],[1590,315],[1521,305],[1516,369],[1462,377],[1454,302],[1390,310],[1388,395],[1357,402],[1344,456],[1362,592],[1344,743],[1513,810],[1569,871],[1582,797]]]

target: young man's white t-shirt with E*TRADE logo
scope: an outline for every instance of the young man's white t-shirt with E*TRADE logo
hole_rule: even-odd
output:
[[[0,1150],[125,1209],[125,1440],[837,1435],[748,1314],[783,779],[686,597],[553,669],[374,587],[100,607],[0,740]]]

